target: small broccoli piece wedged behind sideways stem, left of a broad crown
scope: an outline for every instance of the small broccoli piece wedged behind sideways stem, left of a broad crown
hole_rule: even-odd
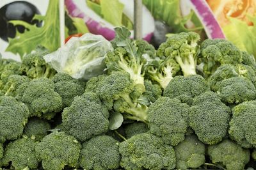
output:
[[[143,96],[147,97],[150,103],[156,102],[157,98],[161,97],[163,91],[158,84],[152,84],[150,80],[145,79],[144,85],[146,91],[143,93]]]

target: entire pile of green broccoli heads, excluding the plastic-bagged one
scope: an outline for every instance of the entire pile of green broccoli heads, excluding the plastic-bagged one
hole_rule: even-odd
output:
[[[116,28],[106,69],[0,58],[0,169],[256,169],[256,62],[227,40],[159,49]]]

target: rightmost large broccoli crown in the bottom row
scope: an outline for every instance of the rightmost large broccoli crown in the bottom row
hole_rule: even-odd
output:
[[[250,151],[228,139],[208,147],[212,163],[223,164],[228,170],[244,169],[250,160]]]

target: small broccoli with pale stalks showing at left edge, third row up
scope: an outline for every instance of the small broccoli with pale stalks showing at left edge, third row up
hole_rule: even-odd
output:
[[[21,84],[24,82],[29,82],[29,78],[25,75],[10,75],[8,77],[8,81],[4,85],[3,93],[6,96],[12,96],[15,97],[17,95],[17,89]]]

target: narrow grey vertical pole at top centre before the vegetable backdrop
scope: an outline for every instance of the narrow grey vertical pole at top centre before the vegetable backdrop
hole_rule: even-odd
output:
[[[142,0],[134,0],[134,38],[142,38]]]

